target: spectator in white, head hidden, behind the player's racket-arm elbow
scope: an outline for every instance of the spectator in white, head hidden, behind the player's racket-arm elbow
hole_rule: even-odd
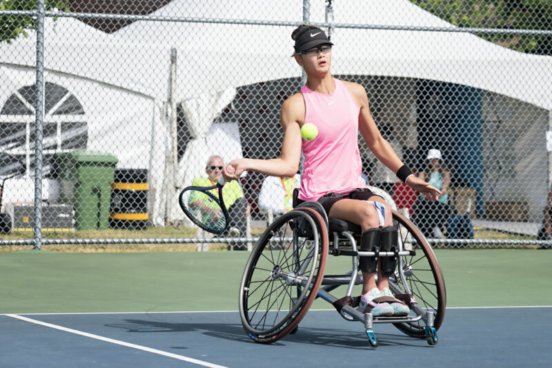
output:
[[[282,215],[293,209],[293,190],[299,187],[295,177],[267,176],[259,193],[259,208],[273,215]]]

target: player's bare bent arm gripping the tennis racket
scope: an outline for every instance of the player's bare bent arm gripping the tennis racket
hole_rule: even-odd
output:
[[[273,176],[293,177],[299,170],[301,158],[301,128],[305,116],[303,96],[296,93],[286,99],[280,111],[280,124],[284,130],[284,141],[280,157],[274,159],[234,159],[228,164],[235,168],[233,175],[223,172],[225,180],[235,180],[246,170]]]

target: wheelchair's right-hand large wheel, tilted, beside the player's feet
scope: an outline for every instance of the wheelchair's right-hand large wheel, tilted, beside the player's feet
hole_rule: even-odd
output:
[[[395,211],[393,211],[393,220],[397,224],[404,249],[415,251],[415,255],[402,258],[402,269],[406,284],[408,284],[408,288],[414,294],[418,304],[417,312],[423,314],[425,311],[433,311],[435,314],[433,323],[435,330],[437,330],[442,325],[446,307],[446,289],[439,262],[437,262],[435,253],[433,253],[433,249],[424,238],[424,235],[410,220]],[[392,288],[397,289],[395,292],[404,291],[404,284],[398,271],[395,271],[395,275],[392,275],[389,281]],[[411,311],[411,314],[413,313]],[[409,323],[402,322],[394,325],[408,336],[426,338],[424,320]]]

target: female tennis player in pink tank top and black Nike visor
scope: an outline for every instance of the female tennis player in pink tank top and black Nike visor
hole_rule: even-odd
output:
[[[236,180],[245,170],[293,177],[303,151],[299,200],[318,201],[328,216],[361,226],[362,250],[373,251],[381,246],[381,250],[385,251],[386,246],[391,246],[393,242],[397,244],[397,229],[393,226],[389,206],[382,197],[366,189],[366,182],[361,177],[358,131],[375,156],[408,186],[428,200],[437,200],[441,193],[412,175],[411,169],[403,164],[382,137],[370,113],[366,90],[359,84],[332,77],[333,43],[326,33],[313,26],[299,26],[291,38],[295,41],[293,57],[304,68],[307,81],[299,93],[282,104],[280,124],[284,140],[280,157],[235,159],[228,163],[235,168],[234,173],[225,171],[224,178],[227,181]],[[302,139],[300,130],[306,123],[317,126],[315,139]],[[377,267],[376,260],[361,258],[363,287],[359,309],[364,313],[371,311],[373,316],[405,316],[408,307],[395,300],[388,288],[388,278],[395,270],[395,261],[389,257],[380,259],[380,267]]]

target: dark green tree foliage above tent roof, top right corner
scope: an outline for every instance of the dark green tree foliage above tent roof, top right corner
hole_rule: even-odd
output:
[[[551,0],[411,0],[455,26],[552,30]],[[552,55],[550,35],[482,34],[480,37],[520,52]]]

